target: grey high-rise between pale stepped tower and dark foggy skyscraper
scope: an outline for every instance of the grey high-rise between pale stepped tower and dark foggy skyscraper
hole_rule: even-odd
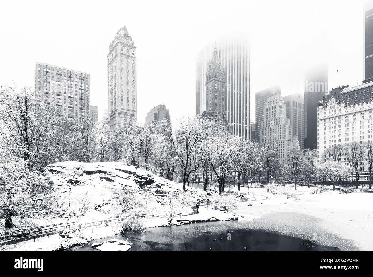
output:
[[[300,149],[304,148],[304,96],[294,93],[282,97],[286,105],[286,117],[290,119],[291,134],[297,136]]]

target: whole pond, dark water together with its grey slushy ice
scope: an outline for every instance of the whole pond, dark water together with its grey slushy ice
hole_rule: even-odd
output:
[[[216,221],[182,226],[148,228],[94,240],[75,251],[96,251],[91,244],[126,239],[130,251],[339,251],[358,250],[322,230],[317,219],[298,213],[275,213],[251,221]],[[210,249],[212,248],[212,249]]]

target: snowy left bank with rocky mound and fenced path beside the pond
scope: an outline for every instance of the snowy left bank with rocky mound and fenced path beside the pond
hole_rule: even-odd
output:
[[[164,216],[165,207],[175,201],[175,195],[182,192],[182,184],[166,180],[151,174],[141,168],[122,164],[120,162],[79,163],[60,162],[49,165],[44,172],[46,178],[53,180],[56,190],[57,201],[60,205],[60,214],[52,218],[35,220],[36,224],[49,225],[61,222],[79,221],[81,232],[73,231],[70,238],[62,238],[57,234],[25,240],[17,244],[0,246],[0,250],[56,250],[71,248],[87,242],[87,240],[98,239],[119,233],[119,224],[111,226],[87,227],[88,222],[107,220],[110,217],[125,214],[153,213],[154,217],[143,219],[146,227],[157,227],[167,225]],[[75,180],[74,180],[75,178]],[[136,202],[135,208],[123,212],[119,205],[122,189],[134,193],[131,201]],[[71,194],[69,194],[71,189]],[[186,187],[186,193],[190,196],[189,202],[181,210],[176,206],[176,220],[200,220],[206,221],[211,218],[218,220],[250,220],[255,218],[251,215],[237,215],[235,213],[222,212],[200,206],[199,213],[194,214],[192,206],[201,200],[210,200],[206,192],[193,187]],[[216,195],[215,190],[209,191]],[[209,196],[210,197],[210,196]],[[80,215],[79,206],[81,199],[90,199],[88,211]],[[69,208],[70,203],[70,208]],[[167,210],[167,208],[166,208]],[[211,219],[213,220],[213,219]]]

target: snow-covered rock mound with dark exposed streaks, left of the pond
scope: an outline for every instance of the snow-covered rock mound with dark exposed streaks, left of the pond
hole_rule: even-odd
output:
[[[123,188],[133,192],[134,199],[146,204],[146,207],[138,206],[131,212],[153,212],[157,207],[161,212],[160,204],[167,202],[173,193],[182,191],[182,184],[121,162],[59,162],[48,165],[43,174],[54,182],[57,201],[65,207],[59,217],[65,220],[79,216],[79,199],[82,197],[91,202],[85,215],[88,222],[90,218],[101,220],[123,214],[117,206]],[[191,187],[186,190],[195,199],[205,197],[202,190]]]

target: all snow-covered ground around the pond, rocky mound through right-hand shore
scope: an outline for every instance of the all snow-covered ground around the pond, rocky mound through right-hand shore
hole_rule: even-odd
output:
[[[38,220],[40,225],[51,223],[79,221],[82,225],[81,231],[73,231],[70,237],[59,237],[58,234],[38,237],[25,240],[17,244],[2,245],[0,250],[56,250],[68,249],[74,245],[82,245],[87,241],[118,234],[119,224],[103,225],[100,227],[85,228],[87,222],[105,220],[109,217],[122,215],[123,211],[118,205],[122,188],[131,190],[135,194],[135,199],[141,205],[130,209],[127,213],[153,212],[154,217],[145,218],[145,227],[157,227],[167,225],[164,217],[166,207],[171,202],[175,193],[182,192],[182,184],[166,180],[157,175],[151,174],[140,168],[122,164],[119,162],[101,163],[79,163],[61,162],[50,165],[45,172],[48,178],[54,181],[57,199],[61,209],[62,217],[56,215],[53,218]],[[73,174],[75,175],[75,184]],[[283,186],[282,190],[287,187]],[[69,197],[69,188],[71,196]],[[229,188],[228,188],[229,189]],[[230,188],[231,191],[236,190]],[[194,187],[186,187],[186,192],[191,199],[183,210],[178,207],[173,224],[180,224],[183,220],[185,224],[198,224],[206,220],[252,220],[263,215],[276,212],[297,212],[311,215],[322,219],[320,225],[331,233],[345,239],[354,240],[356,245],[362,250],[373,250],[373,242],[370,239],[373,233],[373,193],[356,192],[344,193],[337,190],[327,190],[322,194],[316,193],[316,187],[298,187],[295,197],[286,198],[284,194],[273,195],[263,188],[250,188],[241,186],[243,196],[256,198],[254,202],[239,202],[237,207],[230,212],[223,212],[212,209],[210,206],[200,206],[199,213],[195,214],[192,207],[196,202],[207,199],[206,192]],[[354,190],[354,189],[351,189]],[[209,191],[211,199],[216,195],[216,191]],[[158,197],[157,197],[158,194]],[[79,215],[79,197],[86,196],[91,199],[90,208],[84,216]],[[211,200],[209,199],[209,200]],[[69,210],[68,206],[71,206]],[[249,206],[250,205],[250,206]],[[70,213],[71,216],[66,216]],[[75,213],[75,214],[74,214]],[[126,213],[126,212],[125,212]],[[162,216],[161,216],[162,215]],[[183,223],[183,222],[181,222]],[[180,224],[181,225],[181,224]],[[182,228],[182,226],[180,226]],[[121,245],[119,243],[115,243]],[[108,245],[112,247],[113,243]],[[122,247],[122,246],[120,246]]]

